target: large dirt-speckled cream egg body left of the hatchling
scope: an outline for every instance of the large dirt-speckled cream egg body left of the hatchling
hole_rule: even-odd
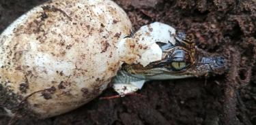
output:
[[[53,0],[24,14],[0,36],[1,107],[48,118],[94,99],[121,67],[117,41],[130,35],[110,0]]]

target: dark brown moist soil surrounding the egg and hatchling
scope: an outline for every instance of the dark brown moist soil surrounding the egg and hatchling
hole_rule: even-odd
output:
[[[47,0],[1,0],[0,32],[18,16]],[[94,99],[46,120],[16,124],[256,124],[255,0],[115,0],[134,28],[159,21],[195,33],[199,48],[229,57],[223,75],[154,81],[119,99]],[[100,97],[116,93],[105,90]],[[0,124],[10,118],[1,117]]]

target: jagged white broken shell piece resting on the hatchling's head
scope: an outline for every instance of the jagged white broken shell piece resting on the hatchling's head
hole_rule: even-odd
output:
[[[134,34],[134,39],[142,48],[139,49],[141,58],[137,60],[137,63],[145,67],[154,61],[162,59],[162,50],[157,42],[175,45],[175,29],[167,24],[154,22],[142,26],[141,29]]]

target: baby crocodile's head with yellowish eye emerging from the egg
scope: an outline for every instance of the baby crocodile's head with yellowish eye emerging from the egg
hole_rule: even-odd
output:
[[[197,48],[195,35],[175,33],[175,44],[157,42],[162,59],[149,65],[124,65],[123,70],[146,79],[180,79],[199,77],[209,73],[221,74],[227,60],[220,54],[212,54]]]

